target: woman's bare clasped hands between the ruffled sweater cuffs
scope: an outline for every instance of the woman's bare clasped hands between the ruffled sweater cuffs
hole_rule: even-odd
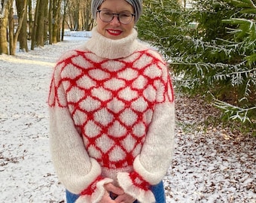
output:
[[[99,203],[133,203],[136,201],[131,195],[124,193],[123,189],[114,186],[112,183],[105,184],[105,194]],[[114,195],[114,199],[111,198],[110,193]]]

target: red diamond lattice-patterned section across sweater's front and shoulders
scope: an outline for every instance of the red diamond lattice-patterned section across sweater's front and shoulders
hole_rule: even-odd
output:
[[[102,166],[133,165],[154,105],[172,101],[169,77],[163,77],[165,64],[151,50],[134,53],[126,60],[73,53],[56,65],[50,106],[69,108],[89,155]]]

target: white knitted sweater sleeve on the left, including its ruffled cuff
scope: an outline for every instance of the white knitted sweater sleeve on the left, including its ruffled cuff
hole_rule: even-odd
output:
[[[70,192],[80,194],[76,202],[98,202],[104,192],[104,184],[111,183],[101,176],[101,167],[91,158],[83,139],[75,128],[69,112],[66,95],[56,66],[48,98],[50,113],[50,152],[59,181]]]

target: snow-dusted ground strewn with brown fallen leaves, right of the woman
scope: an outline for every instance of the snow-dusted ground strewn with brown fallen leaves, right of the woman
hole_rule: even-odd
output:
[[[218,111],[200,98],[176,98],[176,147],[165,177],[167,202],[255,203],[255,138],[207,123]]]

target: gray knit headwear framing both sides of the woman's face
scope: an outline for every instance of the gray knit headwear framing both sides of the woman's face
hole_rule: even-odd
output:
[[[93,14],[93,18],[96,19],[97,9],[100,5],[102,5],[104,0],[92,0],[91,11]],[[130,5],[133,6],[135,11],[135,23],[139,20],[139,17],[142,15],[142,0],[126,0]]]

